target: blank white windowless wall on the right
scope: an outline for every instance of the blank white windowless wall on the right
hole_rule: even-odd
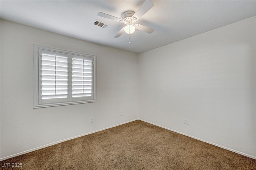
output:
[[[256,17],[144,52],[138,62],[142,120],[256,158]]]

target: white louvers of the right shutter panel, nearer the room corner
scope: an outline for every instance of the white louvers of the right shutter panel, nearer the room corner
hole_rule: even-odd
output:
[[[92,59],[72,58],[72,97],[92,96]]]

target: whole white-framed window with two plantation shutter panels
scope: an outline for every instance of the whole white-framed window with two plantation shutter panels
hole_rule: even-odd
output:
[[[96,102],[96,56],[34,45],[34,108]]]

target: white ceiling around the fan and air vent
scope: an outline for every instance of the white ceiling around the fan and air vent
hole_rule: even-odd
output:
[[[233,22],[256,16],[256,1],[168,1],[152,0],[154,7],[136,23],[154,28],[152,34],[136,30],[114,38],[124,24],[97,16],[104,12],[118,18],[127,10],[136,12],[143,0],[54,0],[0,1],[0,16],[20,24],[119,48],[145,52]],[[106,29],[94,20],[110,24]]]

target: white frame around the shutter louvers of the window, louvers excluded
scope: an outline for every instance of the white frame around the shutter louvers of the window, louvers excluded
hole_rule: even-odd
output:
[[[55,53],[64,53],[68,56],[68,101],[58,101],[52,100],[51,103],[40,103],[42,100],[42,96],[40,96],[40,50],[47,50]],[[72,56],[79,56],[85,58],[92,58],[92,98],[85,100],[75,100],[72,98]],[[49,100],[50,101],[50,100]],[[68,50],[60,50],[56,48],[50,48],[45,46],[34,45],[34,80],[33,80],[33,108],[44,108],[44,107],[51,107],[51,106],[63,106],[63,105],[70,105],[70,104],[82,104],[82,103],[90,103],[96,102],[96,56],[90,54],[83,54],[79,52],[72,52]]]

